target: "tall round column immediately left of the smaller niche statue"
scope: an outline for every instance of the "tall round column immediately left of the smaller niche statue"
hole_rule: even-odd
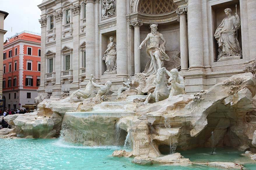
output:
[[[94,0],[87,0],[86,2],[86,79],[94,74],[95,63],[95,31],[94,31]]]

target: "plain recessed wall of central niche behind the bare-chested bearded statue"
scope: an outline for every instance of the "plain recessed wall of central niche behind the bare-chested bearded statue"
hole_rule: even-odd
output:
[[[163,34],[166,40],[165,51],[180,50],[180,23],[178,21],[173,21],[157,25],[157,30],[159,33]],[[148,33],[150,33],[150,24],[143,23],[140,27],[140,43],[147,37]],[[162,43],[163,41],[161,40],[160,44]],[[147,45],[149,44],[150,41],[147,42]],[[141,49],[141,72],[144,71],[149,60],[150,58],[147,56],[146,47],[143,46]]]

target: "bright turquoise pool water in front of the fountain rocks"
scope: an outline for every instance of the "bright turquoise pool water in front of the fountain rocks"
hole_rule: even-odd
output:
[[[0,139],[0,170],[217,170],[205,166],[141,166],[115,158],[118,147],[83,147],[59,139]],[[255,170],[249,164],[247,170]]]

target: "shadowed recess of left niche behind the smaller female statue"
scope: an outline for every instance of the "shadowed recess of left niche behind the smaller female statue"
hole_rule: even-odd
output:
[[[110,43],[109,37],[114,37],[114,42],[116,43],[116,31],[111,31],[111,32],[107,32],[107,33],[103,33],[101,34],[101,75],[105,75],[106,73],[104,73],[107,70],[107,66],[105,64],[105,61],[102,60],[102,58],[104,57],[104,52],[106,51],[106,49],[108,49],[108,44]],[[109,74],[113,74],[113,73],[109,73]]]

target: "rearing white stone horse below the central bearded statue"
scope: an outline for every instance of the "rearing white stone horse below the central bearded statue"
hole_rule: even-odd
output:
[[[157,70],[157,77],[155,79],[156,87],[155,91],[153,93],[149,93],[147,99],[144,102],[145,104],[148,104],[148,101],[152,99],[155,102],[162,101],[164,99],[167,99],[169,97],[169,89],[166,86],[167,79],[165,76],[165,68],[159,68]]]

